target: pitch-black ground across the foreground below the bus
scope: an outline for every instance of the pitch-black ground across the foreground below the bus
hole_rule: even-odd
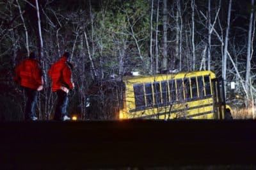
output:
[[[209,165],[255,168],[256,121],[0,122],[0,169]]]

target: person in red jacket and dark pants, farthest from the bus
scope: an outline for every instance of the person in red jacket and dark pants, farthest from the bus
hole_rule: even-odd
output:
[[[15,68],[15,82],[24,88],[28,100],[26,102],[25,120],[37,120],[35,105],[38,91],[43,89],[44,80],[42,70],[34,52],[29,54],[28,59],[24,59]]]

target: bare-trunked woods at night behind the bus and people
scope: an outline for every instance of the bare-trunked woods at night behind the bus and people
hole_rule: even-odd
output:
[[[67,51],[75,85],[68,112],[81,120],[92,118],[93,84],[200,70],[223,77],[233,118],[255,118],[255,21],[254,0],[0,0],[0,120],[24,119],[26,95],[13,77],[31,52],[44,77],[36,115],[52,119],[57,97],[47,72]],[[99,112],[93,118],[108,119]]]

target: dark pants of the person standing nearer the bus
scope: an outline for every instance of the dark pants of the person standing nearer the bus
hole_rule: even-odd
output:
[[[63,116],[67,115],[67,107],[68,107],[68,94],[65,91],[58,90],[58,103],[56,105],[54,120],[61,120]]]

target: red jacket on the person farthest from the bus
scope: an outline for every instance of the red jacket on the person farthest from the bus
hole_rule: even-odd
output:
[[[15,81],[26,88],[37,89],[44,84],[42,70],[36,59],[25,59],[15,68]]]

